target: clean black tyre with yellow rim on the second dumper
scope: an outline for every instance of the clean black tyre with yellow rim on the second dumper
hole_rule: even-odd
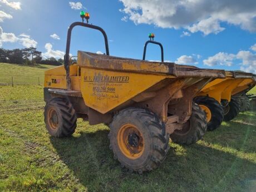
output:
[[[224,119],[224,111],[219,102],[208,96],[196,97],[194,101],[205,111],[207,130],[218,128]]]

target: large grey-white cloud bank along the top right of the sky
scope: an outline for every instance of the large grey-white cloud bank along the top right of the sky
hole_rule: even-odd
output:
[[[125,13],[135,24],[154,24],[162,28],[185,28],[204,35],[219,33],[221,23],[256,32],[256,1],[247,0],[120,0]]]

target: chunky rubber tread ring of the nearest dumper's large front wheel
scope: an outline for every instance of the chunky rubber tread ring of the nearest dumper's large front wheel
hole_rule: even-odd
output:
[[[110,124],[110,145],[114,145],[114,142],[111,141],[116,139],[115,132],[113,131],[116,130],[115,123],[127,116],[131,117],[131,119],[140,120],[142,124],[144,124],[145,129],[149,129],[150,137],[152,138],[153,141],[153,149],[150,159],[144,166],[140,168],[131,168],[127,166],[124,162],[119,160],[121,165],[125,166],[129,170],[132,169],[132,171],[137,172],[139,174],[141,174],[144,171],[150,171],[152,169],[157,168],[163,162],[169,150],[169,135],[165,131],[165,124],[159,119],[159,117],[156,114],[147,109],[130,107],[128,109],[119,111],[114,116]],[[115,151],[113,152],[118,159],[118,155],[115,154]]]

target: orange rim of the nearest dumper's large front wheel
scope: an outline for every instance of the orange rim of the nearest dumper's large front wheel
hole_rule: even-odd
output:
[[[145,148],[141,132],[135,125],[123,125],[117,133],[117,142],[122,154],[129,159],[139,158]]]

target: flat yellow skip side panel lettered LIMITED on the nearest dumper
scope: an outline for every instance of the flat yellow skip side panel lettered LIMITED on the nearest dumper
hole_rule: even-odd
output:
[[[81,68],[81,78],[85,104],[105,114],[166,77]]]

